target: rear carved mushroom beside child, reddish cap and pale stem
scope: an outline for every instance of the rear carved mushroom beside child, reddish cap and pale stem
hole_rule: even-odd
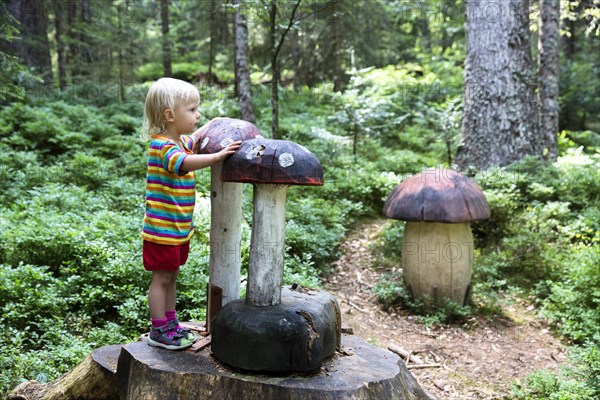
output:
[[[218,153],[228,144],[262,137],[256,126],[234,118],[212,120],[194,153]],[[240,297],[242,185],[221,180],[223,163],[211,167],[210,275],[207,322],[222,306]]]

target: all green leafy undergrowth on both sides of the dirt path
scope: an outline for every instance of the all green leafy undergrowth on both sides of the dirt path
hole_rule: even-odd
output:
[[[155,73],[152,66],[144,68],[138,72]],[[288,189],[285,284],[319,287],[340,256],[347,231],[358,221],[380,218],[395,185],[424,168],[451,162],[460,101],[412,90],[435,88],[447,79],[447,72],[425,68],[415,75],[413,70],[353,72],[344,93],[334,93],[329,84],[281,89],[282,138],[310,149],[325,176],[322,187]],[[93,348],[135,340],[148,329],[150,275],[142,267],[140,238],[147,144],[138,139],[147,85],[134,89],[141,95],[126,103],[108,95],[96,104],[58,96],[0,111],[0,323],[8,332],[0,338],[1,394],[25,379],[54,379]],[[255,90],[256,124],[270,136],[269,97],[260,95],[266,87]],[[238,116],[235,102],[224,93],[203,92],[202,122]],[[588,140],[590,135],[580,136]],[[522,287],[569,340],[597,343],[594,288],[599,286],[590,283],[598,279],[598,155],[590,147],[575,150],[566,137],[562,157],[553,165],[527,160],[496,171],[498,176],[475,177],[492,218],[473,225],[473,304],[421,310],[425,323],[495,310],[496,294]],[[568,138],[579,140],[573,133]],[[178,310],[183,319],[203,320],[208,170],[198,171],[197,192],[197,232],[178,281]],[[244,189],[243,217],[245,278],[250,185]],[[394,222],[376,244],[386,271],[376,290],[385,304],[419,311],[421,305],[411,303],[401,284],[402,235],[402,223]]]

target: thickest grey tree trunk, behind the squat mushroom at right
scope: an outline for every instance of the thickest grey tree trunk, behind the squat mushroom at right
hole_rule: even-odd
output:
[[[456,163],[487,169],[540,156],[528,0],[467,7],[462,143]]]

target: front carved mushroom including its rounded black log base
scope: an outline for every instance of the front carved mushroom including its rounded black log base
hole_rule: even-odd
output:
[[[254,212],[246,300],[215,317],[213,354],[252,371],[319,368],[340,346],[339,305],[326,292],[281,289],[287,187],[323,185],[319,160],[293,142],[253,139],[224,162],[222,178],[254,184]]]

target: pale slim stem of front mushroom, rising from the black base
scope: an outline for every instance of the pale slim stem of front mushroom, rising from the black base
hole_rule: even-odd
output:
[[[246,303],[281,303],[287,185],[255,184]]]

